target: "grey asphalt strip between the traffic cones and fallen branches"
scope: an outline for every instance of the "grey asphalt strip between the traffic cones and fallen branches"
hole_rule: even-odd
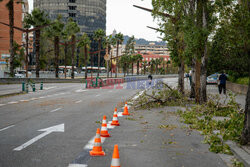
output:
[[[181,107],[129,110],[119,117],[119,127],[110,131],[103,148],[107,157],[92,158],[89,166],[109,166],[114,144],[118,144],[122,167],[226,167],[218,154],[202,144],[203,136],[180,123]],[[120,110],[121,111],[121,110]],[[110,118],[111,116],[109,116]]]

